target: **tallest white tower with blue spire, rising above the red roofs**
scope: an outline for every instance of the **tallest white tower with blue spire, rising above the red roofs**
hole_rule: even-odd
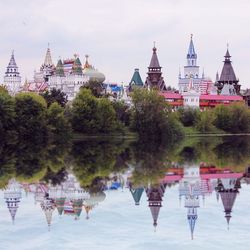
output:
[[[194,48],[193,35],[191,34],[191,39],[188,47],[188,53],[186,56],[186,66],[184,66],[184,75],[179,72],[179,91],[180,93],[188,91],[188,86],[190,79],[193,81],[193,86],[196,92],[199,92],[200,83],[204,79],[204,71],[202,76],[199,75],[199,66],[197,65],[197,54]]]

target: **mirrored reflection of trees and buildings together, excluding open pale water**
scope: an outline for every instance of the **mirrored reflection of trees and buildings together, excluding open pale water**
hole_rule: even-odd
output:
[[[216,138],[211,143],[207,138],[191,138],[175,145],[148,146],[140,142],[92,140],[77,142],[67,150],[49,147],[41,155],[20,155],[17,151],[14,161],[1,162],[0,184],[13,223],[19,206],[26,202],[22,192],[24,196],[34,196],[33,206],[39,204],[49,230],[55,213],[75,221],[81,217],[95,220],[99,210],[93,216],[91,211],[104,201],[112,202],[109,194],[117,192],[117,196],[130,196],[135,206],[127,204],[127,209],[134,211],[136,207],[143,211],[142,199],[147,197],[146,206],[155,230],[166,216],[161,211],[163,205],[168,207],[170,202],[179,200],[186,209],[186,223],[194,239],[199,213],[204,209],[202,203],[212,199],[213,194],[218,211],[223,206],[229,228],[241,184],[250,183],[247,139],[235,140],[237,150],[244,147],[240,154],[234,154],[237,150],[229,138]],[[230,152],[227,159],[225,149]],[[177,199],[170,201],[168,192],[174,192]]]

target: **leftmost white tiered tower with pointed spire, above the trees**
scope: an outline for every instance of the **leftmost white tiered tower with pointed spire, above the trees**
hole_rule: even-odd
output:
[[[4,85],[11,95],[17,94],[22,88],[21,76],[15,61],[14,51],[12,51],[10,62],[5,72]]]

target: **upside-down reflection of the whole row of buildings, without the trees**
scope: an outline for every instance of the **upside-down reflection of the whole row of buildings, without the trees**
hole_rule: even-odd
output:
[[[14,223],[22,198],[22,190],[27,196],[33,194],[34,203],[40,205],[40,211],[44,213],[50,230],[55,211],[60,218],[70,217],[78,221],[81,216],[84,216],[82,214],[85,214],[84,218],[88,220],[91,217],[91,211],[106,199],[107,192],[124,191],[130,195],[133,204],[139,209],[141,201],[147,200],[151,212],[150,219],[152,217],[153,226],[156,229],[163,201],[168,199],[165,194],[166,187],[170,189],[178,184],[179,201],[186,210],[189,227],[187,230],[190,231],[191,239],[194,239],[199,211],[203,209],[206,199],[213,198],[212,194],[215,194],[217,200],[221,200],[218,207],[223,205],[229,228],[241,183],[249,183],[249,169],[249,167],[246,168],[244,173],[235,173],[229,168],[189,164],[184,167],[168,168],[166,175],[159,179],[158,183],[134,184],[131,178],[133,172],[130,172],[129,175],[112,174],[109,178],[99,179],[95,185],[87,188],[82,188],[73,174],[68,174],[67,179],[57,185],[45,182],[18,183],[15,179],[11,179],[4,189],[4,199]]]

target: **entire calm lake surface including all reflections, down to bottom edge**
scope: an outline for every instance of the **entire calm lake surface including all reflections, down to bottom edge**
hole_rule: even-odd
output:
[[[0,150],[0,249],[248,249],[250,137]]]

